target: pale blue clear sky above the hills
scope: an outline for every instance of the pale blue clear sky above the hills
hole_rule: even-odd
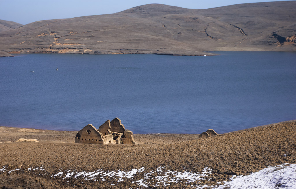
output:
[[[276,1],[276,0],[269,0]],[[241,3],[268,2],[258,0],[0,0],[0,19],[28,24],[39,20],[112,14],[135,6],[159,3],[189,9],[207,9]]]

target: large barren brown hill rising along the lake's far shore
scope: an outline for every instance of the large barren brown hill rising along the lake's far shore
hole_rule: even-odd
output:
[[[147,4],[115,14],[33,22],[0,33],[10,53],[295,51],[296,1],[185,9]]]

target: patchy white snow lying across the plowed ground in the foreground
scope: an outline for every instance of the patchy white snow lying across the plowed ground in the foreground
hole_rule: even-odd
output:
[[[28,169],[15,169],[15,170],[7,170],[7,166],[4,166],[0,169],[1,172],[7,171],[9,174],[12,172],[22,172],[24,170],[28,170],[32,173],[33,170],[41,170],[43,167],[37,167],[33,169],[30,167]],[[240,175],[236,176],[233,175],[228,181],[224,181],[223,185],[190,185],[190,183],[195,182],[197,180],[205,180],[205,177],[208,177],[209,174],[212,174],[212,170],[208,167],[205,167],[201,173],[199,172],[188,172],[184,170],[182,172],[170,171],[165,170],[165,167],[157,167],[156,170],[152,170],[146,174],[144,172],[144,167],[140,169],[133,169],[131,171],[104,171],[102,169],[96,170],[94,172],[75,172],[75,170],[71,171],[59,171],[57,174],[52,175],[51,177],[57,177],[61,179],[65,178],[82,178],[84,180],[106,180],[112,177],[118,178],[117,182],[124,182],[125,180],[130,180],[132,183],[137,183],[140,188],[149,188],[149,187],[157,187],[160,185],[170,185],[170,183],[178,183],[178,182],[186,182],[188,186],[194,189],[203,189],[203,188],[210,188],[210,189],[226,189],[226,188],[234,188],[234,189],[249,189],[249,188],[256,188],[256,189],[280,189],[280,188],[287,188],[287,189],[296,189],[296,164],[281,164],[275,167],[267,167],[263,170],[260,170],[255,173],[251,173],[250,175]],[[153,173],[153,174],[152,174]],[[156,175],[153,177],[152,175]],[[141,177],[140,180],[134,180],[135,176]],[[157,180],[156,184],[151,185],[152,180]],[[197,181],[200,182],[200,181]],[[217,182],[220,184],[220,182]]]

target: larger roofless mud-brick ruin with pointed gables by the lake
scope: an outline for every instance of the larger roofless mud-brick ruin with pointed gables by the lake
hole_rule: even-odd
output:
[[[119,118],[107,120],[97,130],[91,124],[78,131],[75,143],[82,144],[136,144],[133,132],[124,128]]]

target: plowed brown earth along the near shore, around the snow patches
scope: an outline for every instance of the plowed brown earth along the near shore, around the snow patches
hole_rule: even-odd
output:
[[[145,167],[142,174],[134,175],[136,181],[157,167],[178,172],[213,169],[206,180],[192,183],[181,180],[155,187],[157,180],[152,178],[148,184],[148,188],[192,188],[191,185],[215,186],[217,182],[228,181],[232,175],[247,175],[267,166],[296,163],[296,120],[206,139],[198,139],[194,134],[134,134],[137,145],[75,144],[76,133],[0,127],[0,169],[5,166],[5,170],[0,171],[0,188],[145,188],[125,178],[117,182],[116,177],[84,180],[52,175],[65,170],[130,171]],[[20,138],[39,142],[15,142]],[[31,172],[30,167],[44,170]],[[9,173],[15,169],[21,171]]]

